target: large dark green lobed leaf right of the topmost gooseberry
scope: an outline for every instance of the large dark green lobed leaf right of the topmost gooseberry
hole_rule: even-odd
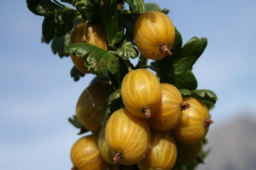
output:
[[[181,37],[179,39],[181,40]],[[181,42],[176,43],[175,48],[179,48],[180,45]],[[206,38],[193,37],[173,56],[164,57],[151,63],[154,67],[159,68],[160,82],[172,84],[178,89],[195,90],[197,80],[192,73],[192,66],[204,52],[206,46]]]

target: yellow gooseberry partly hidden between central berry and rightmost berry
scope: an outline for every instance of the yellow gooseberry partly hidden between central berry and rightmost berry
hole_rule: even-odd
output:
[[[148,119],[154,130],[166,131],[174,128],[181,119],[180,102],[183,102],[180,91],[173,85],[161,83],[162,103]]]

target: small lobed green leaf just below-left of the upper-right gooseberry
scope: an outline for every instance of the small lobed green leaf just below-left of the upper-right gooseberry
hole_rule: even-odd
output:
[[[117,48],[116,52],[123,59],[132,59],[137,58],[139,56],[139,51],[134,47],[134,42],[131,37],[125,35],[125,40],[120,48]]]

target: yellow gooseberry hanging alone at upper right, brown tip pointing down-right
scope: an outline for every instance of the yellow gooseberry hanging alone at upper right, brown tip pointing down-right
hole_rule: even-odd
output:
[[[170,18],[160,11],[141,14],[134,25],[134,40],[140,53],[148,58],[159,60],[172,55],[175,28]]]

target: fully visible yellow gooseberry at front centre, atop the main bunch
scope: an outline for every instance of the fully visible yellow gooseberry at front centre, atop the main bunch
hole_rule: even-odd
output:
[[[161,87],[157,77],[140,68],[125,75],[121,86],[125,108],[134,116],[149,118],[161,104]]]

